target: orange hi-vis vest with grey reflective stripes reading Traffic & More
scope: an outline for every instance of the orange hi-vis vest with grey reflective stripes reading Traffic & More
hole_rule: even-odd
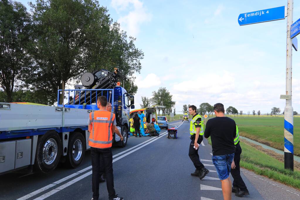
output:
[[[90,137],[88,144],[98,149],[107,149],[112,147],[113,133],[112,125],[115,120],[115,114],[106,110],[96,110],[90,113],[88,131]]]

